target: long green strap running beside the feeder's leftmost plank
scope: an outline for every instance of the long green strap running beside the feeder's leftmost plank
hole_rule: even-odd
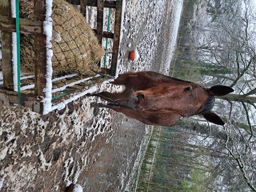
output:
[[[16,9],[16,46],[17,46],[17,91],[18,91],[18,104],[21,105],[21,53],[20,53],[19,0],[15,1],[15,9]]]

